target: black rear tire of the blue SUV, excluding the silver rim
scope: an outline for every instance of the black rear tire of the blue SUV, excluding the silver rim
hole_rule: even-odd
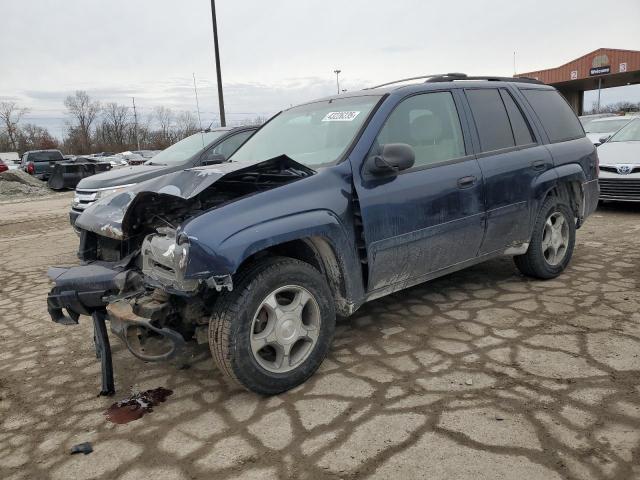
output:
[[[554,214],[561,214],[568,226],[568,245],[566,246],[564,257],[557,264],[553,265],[547,261],[543,251],[543,235],[547,220]],[[571,208],[564,200],[557,197],[549,197],[542,204],[538,212],[536,222],[531,234],[529,249],[524,255],[517,255],[513,260],[518,270],[529,277],[548,280],[560,275],[573,255],[573,248],[576,242],[576,223]]]

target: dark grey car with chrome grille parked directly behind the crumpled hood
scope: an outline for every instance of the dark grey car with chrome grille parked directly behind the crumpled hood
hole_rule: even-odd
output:
[[[114,169],[82,179],[69,212],[71,225],[99,198],[167,173],[225,161],[256,129],[252,126],[225,127],[196,133],[171,145],[144,165]]]

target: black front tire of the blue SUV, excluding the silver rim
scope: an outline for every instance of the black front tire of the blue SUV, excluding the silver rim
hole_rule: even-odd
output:
[[[209,322],[209,348],[220,371],[232,381],[261,395],[276,395],[300,385],[323,362],[335,330],[335,305],[324,276],[311,265],[287,257],[256,261],[240,273],[233,291],[217,299]],[[319,335],[306,359],[291,371],[263,368],[251,350],[253,317],[263,300],[285,285],[299,285],[316,300]]]

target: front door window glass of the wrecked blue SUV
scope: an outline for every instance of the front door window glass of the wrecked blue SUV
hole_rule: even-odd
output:
[[[466,155],[458,111],[450,92],[414,95],[391,112],[378,134],[378,146],[410,145],[416,155],[413,168]]]

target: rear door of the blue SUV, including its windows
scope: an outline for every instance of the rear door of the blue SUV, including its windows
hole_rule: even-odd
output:
[[[467,88],[487,226],[480,255],[529,241],[533,183],[553,167],[548,150],[507,88]]]

